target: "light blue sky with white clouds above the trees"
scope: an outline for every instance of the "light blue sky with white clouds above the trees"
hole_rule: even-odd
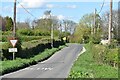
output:
[[[17,0],[17,21],[24,22],[27,18],[30,20],[40,19],[43,16],[44,11],[51,10],[52,15],[57,16],[60,20],[69,19],[78,23],[83,15],[93,13],[95,8],[97,9],[97,12],[99,12],[103,1],[105,2],[100,15],[109,11],[108,0]],[[21,5],[30,14],[25,11]],[[13,18],[13,6],[14,0],[1,0],[0,15]],[[117,9],[118,2],[113,0],[113,10]]]

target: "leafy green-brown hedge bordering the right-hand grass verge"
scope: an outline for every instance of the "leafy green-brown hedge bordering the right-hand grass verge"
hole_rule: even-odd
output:
[[[109,49],[108,46],[93,45],[92,53],[96,62],[118,67],[118,48]]]

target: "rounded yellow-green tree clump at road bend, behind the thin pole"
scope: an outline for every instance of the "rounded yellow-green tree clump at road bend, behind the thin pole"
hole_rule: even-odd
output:
[[[93,27],[94,14],[85,14],[77,25],[74,34],[71,36],[71,42],[88,43],[99,43],[101,40],[101,27],[102,21],[100,16],[96,14],[96,25]],[[94,29],[94,31],[93,31]]]

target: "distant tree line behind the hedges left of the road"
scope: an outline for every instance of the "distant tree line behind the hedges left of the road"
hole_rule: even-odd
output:
[[[3,32],[13,30],[13,20],[11,17],[0,16],[0,20],[1,30]],[[66,35],[74,33],[76,25],[77,24],[72,20],[60,20],[57,16],[52,15],[51,11],[45,11],[42,18],[38,18],[36,20],[30,20],[30,18],[26,18],[24,22],[16,22],[16,29],[17,32],[20,32],[22,34],[35,34],[39,36],[41,33],[47,33],[50,35],[51,27],[53,26],[55,35],[59,37],[65,37]]]

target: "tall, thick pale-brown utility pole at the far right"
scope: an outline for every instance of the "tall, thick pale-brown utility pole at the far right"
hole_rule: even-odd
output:
[[[110,15],[109,15],[109,34],[108,34],[108,41],[111,44],[111,29],[112,29],[112,0],[110,0]]]

